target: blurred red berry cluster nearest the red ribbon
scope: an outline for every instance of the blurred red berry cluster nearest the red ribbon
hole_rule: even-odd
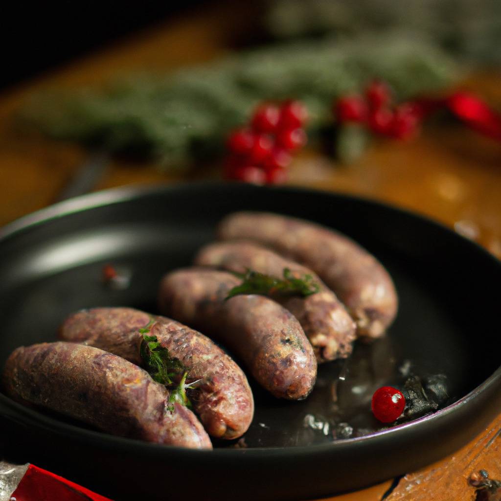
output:
[[[334,103],[333,113],[341,123],[366,125],[372,132],[395,139],[410,139],[419,129],[423,110],[419,103],[394,105],[391,89],[384,82],[373,81],[365,95],[344,96]]]

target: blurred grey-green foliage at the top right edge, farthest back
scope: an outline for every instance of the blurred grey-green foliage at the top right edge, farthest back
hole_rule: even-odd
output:
[[[501,63],[499,0],[270,0],[264,25],[275,38],[398,30],[468,64]]]

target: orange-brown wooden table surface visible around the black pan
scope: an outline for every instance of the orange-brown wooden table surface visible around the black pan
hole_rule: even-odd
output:
[[[34,92],[47,88],[99,85],[117,74],[174,69],[207,61],[224,52],[224,36],[237,33],[242,15],[211,7],[181,15],[163,26],[82,58],[0,96],[0,225],[52,203],[86,152],[73,144],[27,137],[13,127],[15,110]],[[464,82],[491,102],[501,103],[501,73],[476,74]],[[213,168],[197,174],[214,177]],[[153,164],[112,162],[97,189],[182,179]],[[290,182],[356,193],[429,215],[478,241],[501,258],[501,145],[461,127],[427,129],[410,143],[374,143],[355,164],[340,166],[314,152],[293,165]],[[501,416],[470,444],[428,468],[364,491],[331,499],[389,501],[474,498],[469,474],[486,469],[501,478],[497,430]]]

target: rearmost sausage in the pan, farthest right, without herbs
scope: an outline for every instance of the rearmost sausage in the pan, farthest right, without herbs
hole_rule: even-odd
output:
[[[235,212],[220,222],[218,237],[255,240],[311,268],[348,308],[361,337],[381,337],[396,316],[397,293],[384,267],[333,229],[280,214]]]

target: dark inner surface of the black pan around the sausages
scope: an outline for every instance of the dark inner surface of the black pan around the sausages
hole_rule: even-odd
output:
[[[315,390],[302,402],[274,399],[249,378],[256,415],[240,445],[290,447],[360,436],[381,428],[370,412],[379,386],[402,384],[409,372],[422,378],[444,374],[454,401],[497,368],[493,350],[486,349],[495,342],[489,327],[495,301],[482,289],[492,279],[492,263],[461,237],[346,197],[298,192],[293,208],[288,191],[218,194],[144,194],[8,236],[0,251],[2,364],[18,346],[54,341],[62,320],[81,308],[130,306],[156,313],[162,275],[189,266],[196,250],[213,239],[217,220],[245,208],[292,213],[352,236],[387,267],[400,307],[386,338],[357,342],[348,361],[322,365]],[[122,288],[103,282],[107,264],[127,277]]]

